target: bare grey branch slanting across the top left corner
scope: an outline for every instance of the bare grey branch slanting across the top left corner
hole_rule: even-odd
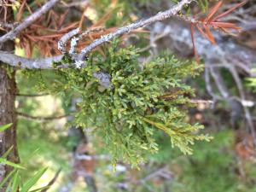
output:
[[[30,26],[35,20],[38,20],[40,16],[49,11],[49,9],[51,9],[58,1],[59,0],[50,0],[48,3],[45,3],[40,9],[38,9],[38,11],[28,16],[26,20],[20,23],[19,26],[16,26],[14,30],[11,30],[10,32],[3,35],[0,38],[0,43],[3,44],[8,40],[14,39],[23,29],[25,29],[27,26]]]

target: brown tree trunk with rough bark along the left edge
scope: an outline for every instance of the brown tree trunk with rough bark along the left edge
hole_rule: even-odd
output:
[[[0,18],[1,22],[12,22],[14,15],[11,7],[1,9]],[[5,18],[5,20],[3,18]],[[3,32],[0,33],[0,36],[1,35],[3,35]],[[4,51],[14,51],[15,44],[12,41],[8,41],[4,44],[0,44],[0,49]],[[12,148],[8,160],[16,163],[19,162],[19,155],[16,144],[17,116],[15,113],[15,93],[15,70],[12,68],[8,69],[7,65],[0,62],[0,125],[13,124],[9,129],[0,132],[0,156],[9,150],[9,148]],[[9,174],[11,169],[12,167],[10,166],[0,164],[0,183],[3,178]],[[0,189],[0,192],[4,191],[4,187]]]

